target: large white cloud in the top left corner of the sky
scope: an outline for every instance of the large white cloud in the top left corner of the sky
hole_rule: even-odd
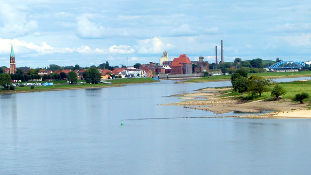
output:
[[[26,8],[27,9],[27,8]],[[25,7],[14,3],[14,8],[1,1],[0,5],[0,37],[14,38],[28,35],[38,28],[37,21],[29,19]]]

